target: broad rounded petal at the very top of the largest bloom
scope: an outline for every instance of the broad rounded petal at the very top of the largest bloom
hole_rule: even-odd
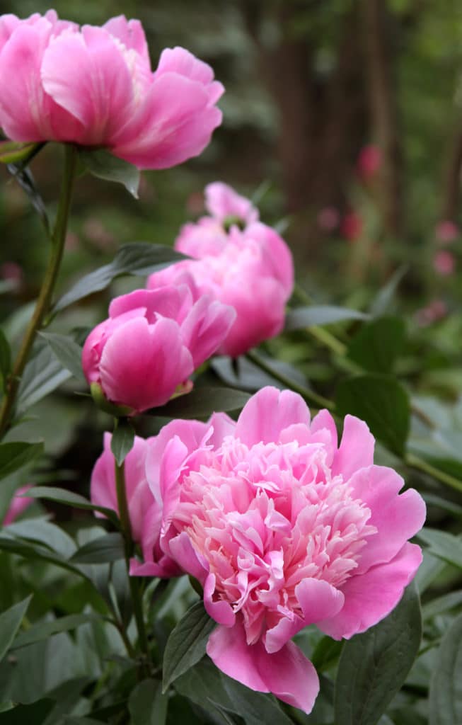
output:
[[[245,404],[235,436],[248,446],[278,442],[281,431],[293,423],[309,426],[310,412],[303,398],[290,390],[267,386]]]

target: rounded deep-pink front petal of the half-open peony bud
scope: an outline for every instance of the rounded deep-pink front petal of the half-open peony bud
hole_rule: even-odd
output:
[[[149,326],[135,318],[106,342],[99,369],[106,397],[140,412],[164,405],[193,372],[193,360],[174,320]]]

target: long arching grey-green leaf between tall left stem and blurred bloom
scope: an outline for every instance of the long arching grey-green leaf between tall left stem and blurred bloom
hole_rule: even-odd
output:
[[[64,310],[64,307],[73,305],[78,299],[88,297],[89,294],[106,289],[117,277],[126,274],[146,277],[156,270],[186,258],[184,254],[162,244],[148,244],[146,241],[124,244],[109,265],[104,265],[81,278],[69,292],[64,294],[54,306],[54,312]]]

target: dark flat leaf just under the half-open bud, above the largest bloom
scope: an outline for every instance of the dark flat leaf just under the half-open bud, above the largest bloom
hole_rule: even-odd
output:
[[[148,410],[149,415],[159,418],[209,418],[209,415],[221,410],[230,413],[240,410],[250,399],[248,393],[232,388],[201,387],[193,389],[186,395],[171,400],[167,405]]]

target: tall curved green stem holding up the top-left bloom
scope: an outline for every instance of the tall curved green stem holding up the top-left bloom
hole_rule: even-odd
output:
[[[0,438],[7,431],[10,423],[14,402],[16,401],[17,389],[20,386],[21,376],[30,355],[30,350],[35,341],[35,336],[40,330],[46,314],[49,312],[53,298],[54,287],[58,278],[59,266],[61,265],[66,241],[67,222],[69,220],[72,189],[75,180],[75,168],[77,166],[77,149],[71,144],[64,146],[64,172],[62,178],[61,194],[59,195],[58,212],[56,223],[51,236],[51,253],[49,265],[43,279],[40,294],[38,296],[35,310],[29,326],[22,339],[20,350],[14,362],[12,373],[9,376],[7,394],[4,397],[0,409]]]

